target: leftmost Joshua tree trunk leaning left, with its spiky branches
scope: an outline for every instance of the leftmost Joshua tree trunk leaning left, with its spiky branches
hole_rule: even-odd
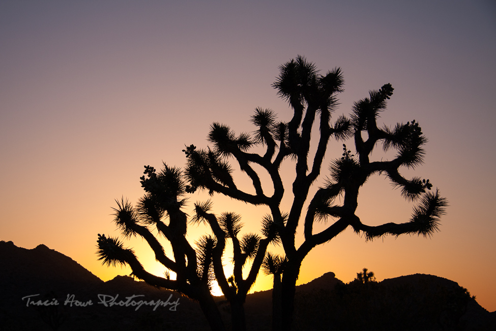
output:
[[[100,234],[97,245],[99,260],[108,266],[128,264],[136,278],[153,286],[179,291],[197,300],[211,328],[225,329],[210,293],[211,259],[216,242],[211,236],[203,236],[198,240],[195,251],[186,240],[187,215],[182,210],[185,200],[182,198],[184,183],[180,170],[164,164],[159,174],[150,166],[145,167],[144,174],[146,177],[141,177],[141,185],[146,194],[139,200],[137,207],[124,199],[116,201],[114,221],[125,237],[139,235],[145,239],[154,251],[155,259],[166,270],[175,272],[177,279],[171,280],[168,271],[164,278],[149,273],[144,270],[133,250],[125,248],[118,238]],[[165,218],[168,218],[168,224],[164,223]],[[162,244],[150,231],[152,225],[170,242],[173,259],[166,256]]]

